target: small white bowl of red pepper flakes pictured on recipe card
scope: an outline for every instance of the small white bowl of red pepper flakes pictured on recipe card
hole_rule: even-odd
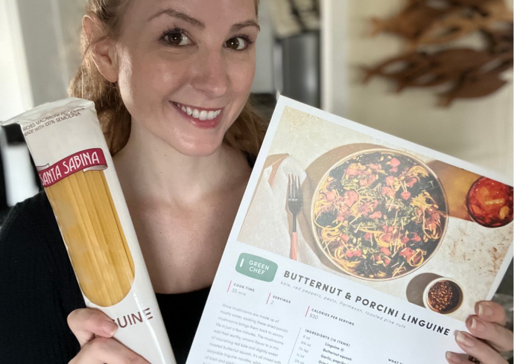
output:
[[[461,285],[450,278],[440,277],[427,285],[423,294],[425,307],[441,314],[450,314],[461,306],[464,298]]]

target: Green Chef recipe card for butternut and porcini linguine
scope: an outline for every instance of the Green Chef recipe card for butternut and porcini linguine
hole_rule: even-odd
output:
[[[512,259],[511,185],[281,97],[188,363],[444,362]]]

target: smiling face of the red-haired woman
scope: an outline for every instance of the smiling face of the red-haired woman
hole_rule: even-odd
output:
[[[250,93],[258,32],[253,0],[132,0],[114,64],[133,128],[215,152]]]

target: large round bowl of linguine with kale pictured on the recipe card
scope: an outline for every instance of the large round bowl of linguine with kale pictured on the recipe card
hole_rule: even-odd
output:
[[[397,279],[423,266],[446,231],[448,203],[435,173],[395,150],[348,155],[321,178],[311,204],[316,244],[348,275]]]

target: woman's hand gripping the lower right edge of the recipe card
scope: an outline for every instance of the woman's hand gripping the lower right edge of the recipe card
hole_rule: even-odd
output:
[[[512,350],[512,332],[504,327],[505,310],[498,303],[481,301],[475,305],[475,314],[466,320],[472,335],[458,332],[457,344],[482,364],[506,364],[499,352]],[[449,363],[472,363],[468,355],[448,352]]]

